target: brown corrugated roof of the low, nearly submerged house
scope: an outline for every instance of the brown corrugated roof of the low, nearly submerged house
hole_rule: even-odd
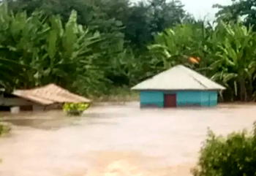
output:
[[[20,96],[23,99],[29,99],[32,102],[45,105],[65,102],[91,102],[91,100],[86,99],[83,96],[78,96],[75,93],[71,93],[55,84],[49,84],[29,90],[16,90],[13,91],[13,94],[15,96]]]

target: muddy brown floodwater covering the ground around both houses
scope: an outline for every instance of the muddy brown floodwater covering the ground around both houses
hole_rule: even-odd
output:
[[[1,176],[189,176],[207,128],[251,129],[256,105],[140,110],[138,104],[4,115]],[[1,115],[2,116],[2,115]]]

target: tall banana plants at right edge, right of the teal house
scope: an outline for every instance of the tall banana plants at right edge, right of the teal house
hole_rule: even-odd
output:
[[[255,80],[255,32],[241,24],[220,23],[212,35],[216,46],[212,78],[233,89],[242,101],[252,97]]]

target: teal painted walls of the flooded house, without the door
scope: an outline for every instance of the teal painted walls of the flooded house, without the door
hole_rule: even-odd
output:
[[[176,94],[178,107],[217,105],[217,91],[140,91],[140,106],[164,107],[164,96],[168,93]]]

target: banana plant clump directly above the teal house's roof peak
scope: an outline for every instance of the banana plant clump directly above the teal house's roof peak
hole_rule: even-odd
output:
[[[158,34],[154,44],[148,46],[156,66],[163,69],[176,64],[195,67],[188,58],[205,58],[206,30],[202,23],[195,23],[167,28]]]

